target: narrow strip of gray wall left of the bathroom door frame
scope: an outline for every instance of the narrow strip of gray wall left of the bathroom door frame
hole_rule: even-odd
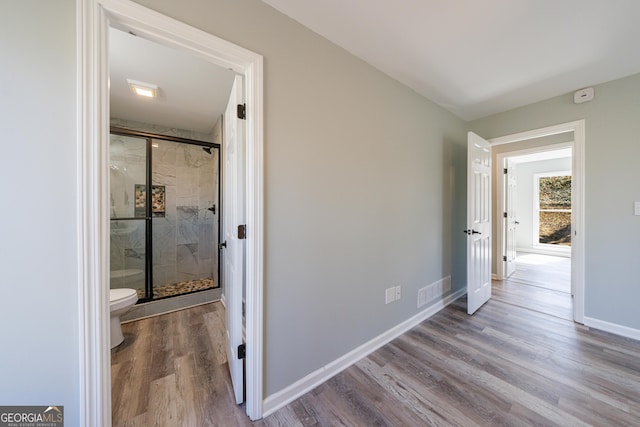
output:
[[[0,2],[0,404],[79,424],[75,2]]]

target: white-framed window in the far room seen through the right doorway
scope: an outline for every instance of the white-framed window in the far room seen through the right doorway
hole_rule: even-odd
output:
[[[537,174],[534,244],[571,246],[571,172]]]

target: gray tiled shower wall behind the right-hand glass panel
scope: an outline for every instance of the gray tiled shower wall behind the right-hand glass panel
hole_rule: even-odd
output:
[[[217,282],[219,151],[162,140],[153,144],[152,182],[165,187],[166,199],[165,216],[153,218],[154,286]]]

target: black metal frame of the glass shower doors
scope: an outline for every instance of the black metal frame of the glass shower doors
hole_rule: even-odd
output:
[[[222,156],[221,156],[221,150],[220,150],[220,144],[217,144],[215,142],[207,142],[207,141],[200,141],[200,140],[196,140],[196,139],[188,139],[188,138],[181,138],[178,136],[170,136],[170,135],[160,135],[160,134],[155,134],[152,132],[145,132],[145,131],[138,131],[138,130],[133,130],[133,129],[127,129],[127,128],[123,128],[123,127],[118,127],[118,126],[111,126],[110,130],[109,130],[110,134],[114,134],[114,135],[121,135],[121,136],[128,136],[128,137],[133,137],[133,138],[140,138],[140,139],[144,139],[145,143],[146,143],[146,182],[145,182],[145,186],[147,189],[152,188],[151,186],[153,185],[153,150],[152,150],[152,142],[154,139],[158,139],[161,141],[170,141],[170,142],[176,142],[176,143],[180,143],[180,144],[189,144],[189,145],[197,145],[200,147],[210,147],[210,148],[215,148],[216,150],[218,150],[218,164],[217,164],[217,173],[218,173],[218,241],[214,242],[214,248],[217,251],[217,258],[218,258],[218,271],[216,274],[216,286],[214,286],[213,288],[210,289],[219,289],[220,288],[220,278],[221,278],[221,274],[220,274],[220,249],[218,244],[220,243],[220,233],[221,233],[221,221],[220,221],[220,215],[222,214]],[[169,297],[162,297],[162,298],[154,298],[153,297],[153,204],[152,204],[152,192],[151,191],[147,191],[146,192],[146,200],[145,200],[145,217],[144,217],[144,221],[145,221],[145,274],[144,274],[144,287],[145,287],[145,296],[144,298],[140,298],[137,302],[137,304],[140,303],[145,303],[145,302],[150,302],[150,301],[160,301],[162,299],[165,298],[171,298],[173,296],[179,296],[179,295],[188,295],[188,294],[192,294],[192,293],[197,293],[197,292],[202,292],[204,290],[209,290],[209,289],[202,289],[202,290],[198,290],[198,291],[191,291],[191,292],[185,292],[182,294],[176,294],[176,295],[171,295]],[[140,218],[118,218],[119,220],[129,220],[129,219],[140,219]]]

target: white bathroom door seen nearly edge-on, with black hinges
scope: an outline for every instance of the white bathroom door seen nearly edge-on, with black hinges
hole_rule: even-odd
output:
[[[242,77],[236,76],[224,113],[223,292],[226,306],[227,359],[236,403],[244,400],[244,361],[238,358],[242,340],[242,286],[244,240],[238,226],[244,224],[244,121],[238,119],[242,104]],[[224,244],[223,244],[224,245]]]

